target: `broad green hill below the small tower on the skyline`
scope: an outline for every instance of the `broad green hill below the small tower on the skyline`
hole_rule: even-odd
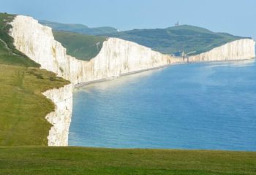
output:
[[[135,29],[122,31],[108,36],[137,42],[162,53],[173,54],[184,50],[190,55],[197,55],[227,42],[241,39],[225,33],[214,33],[195,26],[176,26],[165,29]]]

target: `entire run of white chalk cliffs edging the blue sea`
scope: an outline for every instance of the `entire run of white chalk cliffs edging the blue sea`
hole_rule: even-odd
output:
[[[46,117],[53,124],[48,136],[48,144],[52,146],[67,145],[74,85],[184,62],[180,58],[172,58],[148,47],[116,38],[105,41],[99,54],[91,61],[80,61],[67,55],[66,49],[54,39],[51,28],[40,25],[37,20],[18,15],[11,25],[10,36],[20,52],[39,63],[42,69],[53,71],[72,82],[64,88],[44,93],[56,104],[55,111]],[[191,57],[189,61],[227,61],[254,57],[255,42],[252,39],[241,39]]]

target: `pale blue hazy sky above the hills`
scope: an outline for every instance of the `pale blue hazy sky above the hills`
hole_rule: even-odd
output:
[[[166,28],[177,20],[256,39],[255,0],[0,0],[0,12],[90,27]]]

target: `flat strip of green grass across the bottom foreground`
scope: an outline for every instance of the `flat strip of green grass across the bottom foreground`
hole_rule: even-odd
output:
[[[0,174],[256,174],[256,152],[0,147]]]

